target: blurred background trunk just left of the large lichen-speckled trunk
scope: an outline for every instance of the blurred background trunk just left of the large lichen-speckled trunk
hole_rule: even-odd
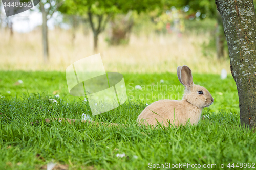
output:
[[[217,11],[217,28],[216,28],[216,51],[218,59],[224,58],[224,41],[223,24],[221,14]]]

